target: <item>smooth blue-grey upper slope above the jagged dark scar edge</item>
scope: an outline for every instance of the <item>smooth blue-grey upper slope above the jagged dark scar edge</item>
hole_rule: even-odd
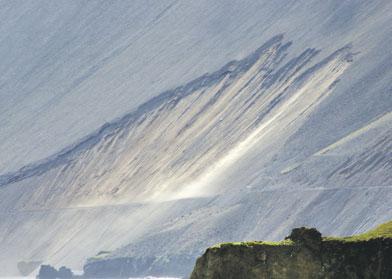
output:
[[[377,100],[390,95],[389,0],[0,2],[1,174],[59,152],[280,33],[295,42],[292,56],[355,44],[360,63],[336,96],[344,103],[355,97],[373,117],[387,107]],[[357,114],[343,112],[341,123]]]

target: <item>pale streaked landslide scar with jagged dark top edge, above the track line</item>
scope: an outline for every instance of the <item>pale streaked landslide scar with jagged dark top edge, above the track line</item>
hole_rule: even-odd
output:
[[[284,143],[352,60],[344,47],[318,63],[313,49],[282,63],[288,48],[275,37],[53,158],[1,177],[5,200],[26,210],[209,194],[212,180],[250,149]]]

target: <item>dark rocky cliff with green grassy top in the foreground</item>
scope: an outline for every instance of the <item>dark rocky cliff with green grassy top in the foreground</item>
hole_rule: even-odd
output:
[[[347,238],[298,228],[282,242],[220,244],[197,260],[191,279],[220,278],[392,278],[392,222]]]

